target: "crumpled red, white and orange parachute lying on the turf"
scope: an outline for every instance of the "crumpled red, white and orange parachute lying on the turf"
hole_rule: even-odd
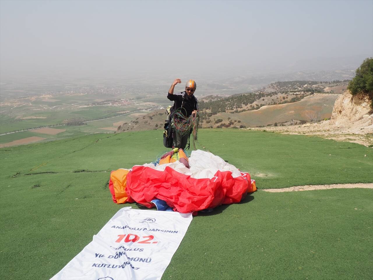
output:
[[[188,159],[180,152],[176,157],[175,150],[166,153],[160,164],[113,171],[109,181],[113,201],[135,201],[151,208],[154,205],[149,202],[160,199],[174,211],[189,213],[237,203],[247,193],[256,191],[250,174],[239,171],[219,156],[196,150]]]

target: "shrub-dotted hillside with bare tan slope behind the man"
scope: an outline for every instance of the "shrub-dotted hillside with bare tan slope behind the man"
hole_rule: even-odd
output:
[[[244,128],[286,123],[294,119],[304,123],[330,118],[333,104],[338,94],[346,90],[347,84],[346,80],[285,81],[229,97],[209,95],[199,100],[200,127]],[[294,103],[294,106],[289,103]],[[263,106],[266,107],[261,109]],[[154,111],[123,123],[117,131],[163,129],[165,119],[165,110]]]

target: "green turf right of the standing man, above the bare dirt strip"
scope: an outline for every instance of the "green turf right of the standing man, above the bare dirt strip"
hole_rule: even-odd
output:
[[[262,131],[200,131],[201,143],[250,172],[260,188],[373,181],[373,150],[359,144]]]

